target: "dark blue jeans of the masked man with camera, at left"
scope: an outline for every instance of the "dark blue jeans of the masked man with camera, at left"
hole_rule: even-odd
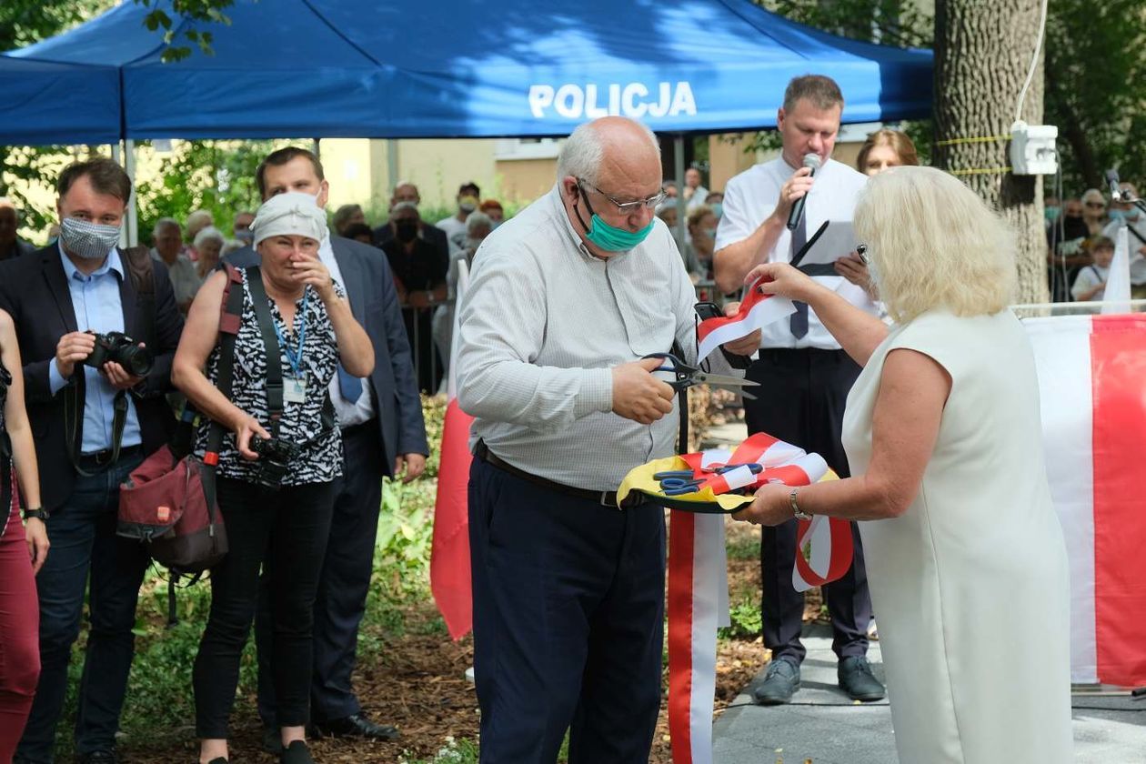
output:
[[[119,485],[143,460],[121,457],[93,475],[77,475],[63,506],[48,518],[52,549],[37,576],[40,600],[40,684],[16,759],[50,764],[56,723],[68,693],[68,661],[79,636],[91,570],[91,628],[76,717],[76,753],[111,750],[135,649],[135,601],[148,556],[116,536]]]

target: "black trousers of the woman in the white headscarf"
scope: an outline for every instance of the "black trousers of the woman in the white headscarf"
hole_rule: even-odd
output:
[[[311,627],[330,533],[332,483],[268,490],[220,478],[218,490],[230,549],[211,569],[211,614],[195,657],[196,734],[228,737],[238,662],[254,620],[264,565],[274,578],[270,608],[276,716],[282,726],[306,724]]]

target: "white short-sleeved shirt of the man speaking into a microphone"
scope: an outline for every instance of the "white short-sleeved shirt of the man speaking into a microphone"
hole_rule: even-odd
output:
[[[755,165],[728,182],[724,188],[724,214],[716,228],[716,251],[748,238],[772,214],[779,200],[780,187],[796,171],[777,157]],[[829,159],[816,171],[815,182],[804,203],[804,223],[808,238],[825,220],[849,221],[856,198],[868,182],[868,176],[845,164]],[[856,242],[857,244],[859,242]],[[845,257],[848,252],[840,252]],[[792,259],[792,233],[784,228],[768,253],[768,262],[788,262]],[[816,281],[834,289],[855,306],[877,315],[876,305],[868,293],[843,276],[816,276]],[[808,309],[808,333],[796,339],[788,322],[778,321],[764,326],[760,346],[764,348],[806,348],[838,351],[840,344],[824,329],[815,310]]]

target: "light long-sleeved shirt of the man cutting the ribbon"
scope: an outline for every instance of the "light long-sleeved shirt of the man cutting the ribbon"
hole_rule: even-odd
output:
[[[611,368],[666,353],[674,339],[691,363],[694,300],[664,222],[603,260],[584,247],[554,187],[473,259],[455,361],[458,403],[477,417],[472,439],[541,478],[615,490],[629,470],[674,452],[678,418],[675,401],[652,425],[613,413]]]

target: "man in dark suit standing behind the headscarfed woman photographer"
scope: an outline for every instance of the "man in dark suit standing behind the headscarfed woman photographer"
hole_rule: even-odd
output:
[[[305,149],[285,148],[267,156],[258,170],[264,200],[285,191],[315,197],[327,204],[329,184],[319,158]],[[314,605],[314,678],[311,717],[319,735],[392,740],[398,731],[362,714],[351,686],[358,629],[366,613],[367,590],[374,568],[374,545],[382,504],[382,478],[398,476],[405,467],[409,482],[425,470],[425,425],[410,347],[406,338],[394,278],[378,250],[338,236],[320,247],[320,258],[346,289],[351,312],[370,336],[375,364],[369,379],[354,379],[339,367],[330,395],[343,428],[346,466],[337,480],[335,514],[327,558]],[[249,247],[233,252],[236,267],[258,263]],[[264,575],[274,575],[264,570]],[[264,594],[266,588],[264,586]],[[264,742],[277,748],[274,719],[269,602],[260,598],[254,624],[259,647],[259,714]]]

